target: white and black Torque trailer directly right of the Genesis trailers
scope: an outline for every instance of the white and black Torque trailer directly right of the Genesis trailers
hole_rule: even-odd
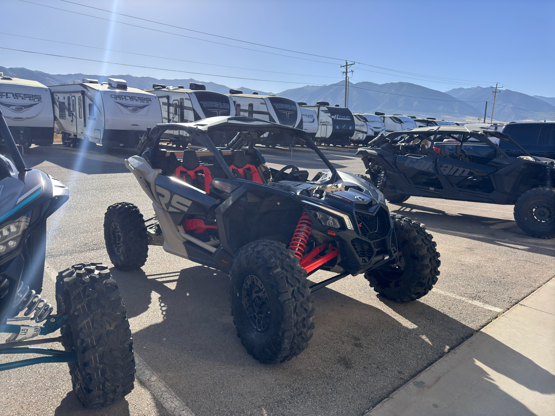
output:
[[[228,95],[206,91],[204,84],[191,82],[188,89],[183,85],[166,87],[153,84],[152,89],[145,91],[158,96],[162,123],[191,123],[210,117],[235,115],[233,100]],[[222,146],[228,143],[227,135],[223,131],[213,131],[211,139],[216,146]],[[162,139],[182,148],[186,148],[191,140],[184,130],[166,130]]]

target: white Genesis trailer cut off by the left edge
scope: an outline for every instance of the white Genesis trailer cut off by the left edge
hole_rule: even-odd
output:
[[[45,85],[0,72],[0,109],[13,138],[26,148],[54,140],[52,98]]]

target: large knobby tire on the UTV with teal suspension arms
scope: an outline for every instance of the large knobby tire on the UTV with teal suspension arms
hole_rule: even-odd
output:
[[[62,345],[78,361],[68,363],[73,391],[84,407],[95,409],[122,399],[133,390],[133,339],[118,285],[108,266],[74,265],[56,279]]]

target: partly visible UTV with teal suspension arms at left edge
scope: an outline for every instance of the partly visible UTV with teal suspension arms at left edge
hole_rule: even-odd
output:
[[[0,344],[0,354],[44,356],[2,363],[0,371],[68,363],[73,390],[85,407],[114,403],[133,389],[135,379],[133,339],[118,285],[108,266],[74,265],[58,273],[53,313],[40,295],[46,220],[68,200],[69,192],[52,176],[26,168],[1,111],[0,134],[8,149],[6,156],[0,155],[0,332],[10,334]],[[20,312],[23,316],[16,317]],[[57,329],[59,337],[35,338]],[[65,351],[29,347],[51,342],[61,342]],[[36,380],[33,383],[40,389]]]

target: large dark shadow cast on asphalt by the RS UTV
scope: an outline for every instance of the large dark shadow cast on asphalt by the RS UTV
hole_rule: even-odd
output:
[[[413,323],[405,326],[323,288],[313,295],[316,327],[309,347],[291,361],[260,364],[236,336],[229,276],[204,266],[176,274],[136,272],[139,278],[131,281],[114,271],[130,318],[158,302],[150,305],[158,318],[133,333],[135,352],[195,414],[360,414],[475,332],[422,302],[383,300]],[[138,293],[138,284],[145,293]],[[503,371],[502,363],[490,364]]]

